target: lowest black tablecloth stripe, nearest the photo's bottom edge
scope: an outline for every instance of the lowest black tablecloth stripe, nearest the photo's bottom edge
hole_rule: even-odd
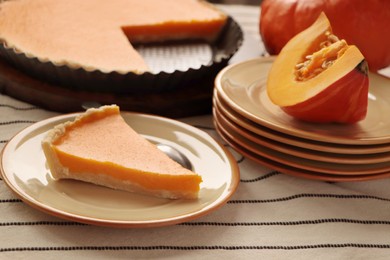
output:
[[[22,252],[22,251],[194,251],[194,250],[305,250],[321,248],[371,248],[390,249],[389,244],[362,244],[362,243],[340,243],[340,244],[312,244],[312,245],[246,245],[246,246],[61,246],[61,247],[7,247],[0,248],[0,252]]]

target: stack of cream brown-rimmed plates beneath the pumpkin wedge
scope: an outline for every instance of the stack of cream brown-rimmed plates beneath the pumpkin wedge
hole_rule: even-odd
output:
[[[299,177],[359,181],[390,177],[390,79],[370,74],[367,117],[359,123],[296,120],[266,93],[273,58],[230,65],[216,77],[214,124],[234,149]]]

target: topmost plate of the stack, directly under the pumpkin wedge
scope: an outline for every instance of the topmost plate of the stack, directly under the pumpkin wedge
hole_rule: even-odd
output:
[[[236,112],[275,131],[339,144],[372,145],[390,143],[390,79],[370,74],[368,113],[356,124],[311,124],[295,120],[274,105],[266,93],[268,71],[274,58],[256,58],[223,69],[215,86]]]

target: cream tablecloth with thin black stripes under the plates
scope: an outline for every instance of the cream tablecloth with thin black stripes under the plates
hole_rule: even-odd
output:
[[[264,53],[259,8],[220,5],[242,26],[231,63]],[[247,48],[247,46],[256,46]],[[0,95],[0,145],[57,115]],[[223,142],[211,115],[180,121]],[[182,224],[120,229],[63,220],[31,208],[0,180],[0,259],[367,259],[390,254],[390,179],[329,183],[273,171],[240,155],[237,192],[221,208]]]

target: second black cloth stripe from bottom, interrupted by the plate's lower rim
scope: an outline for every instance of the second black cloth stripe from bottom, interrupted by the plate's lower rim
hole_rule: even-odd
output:
[[[301,226],[318,224],[358,224],[358,225],[390,225],[389,220],[360,220],[346,218],[329,218],[296,221],[271,221],[271,222],[184,222],[178,226],[223,226],[223,227],[248,227],[248,226]],[[3,222],[0,227],[9,226],[89,226],[87,224],[72,221],[35,221],[35,222]]]

